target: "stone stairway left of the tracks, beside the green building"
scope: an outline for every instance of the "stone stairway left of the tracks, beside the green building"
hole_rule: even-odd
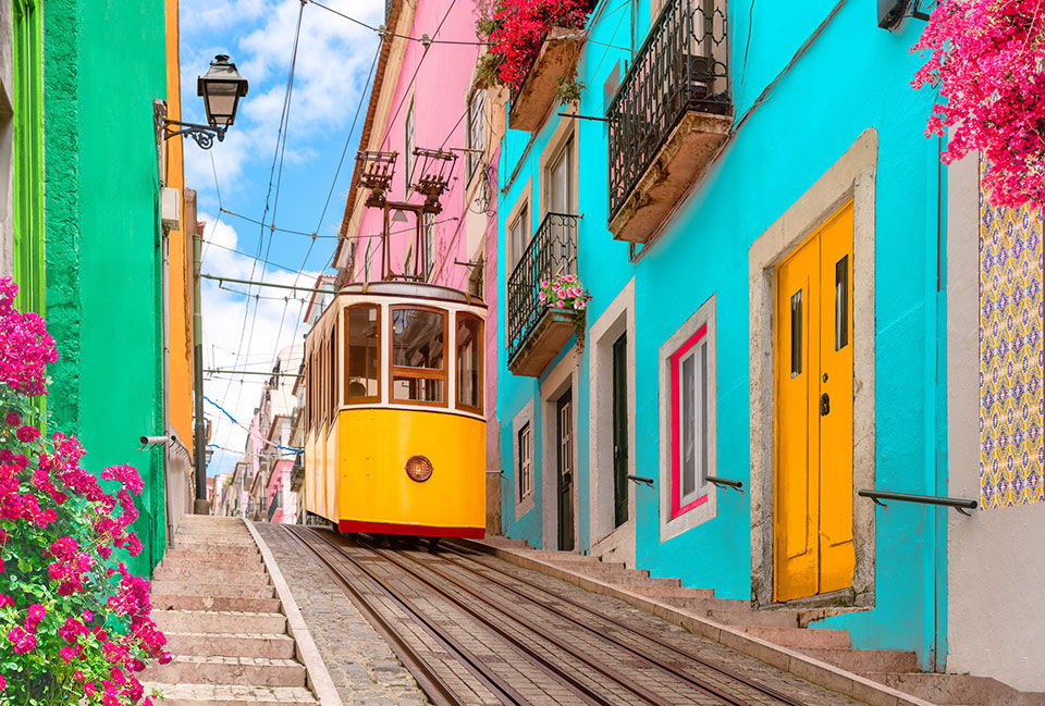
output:
[[[152,577],[173,659],[144,674],[164,706],[316,706],[243,520],[188,515]]]

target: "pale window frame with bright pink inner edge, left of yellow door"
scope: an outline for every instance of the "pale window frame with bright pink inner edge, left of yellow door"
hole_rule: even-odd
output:
[[[693,343],[692,348],[686,351],[686,354],[679,358],[679,375],[681,375],[681,366],[684,361],[690,356],[699,356],[703,347],[708,351],[708,370],[706,370],[706,394],[708,394],[708,467],[706,470],[701,473],[701,469],[698,468],[698,473],[701,474],[700,483],[697,484],[697,487],[691,494],[686,496],[681,495],[681,459],[679,460],[679,478],[678,486],[675,485],[674,478],[674,468],[675,468],[675,448],[673,439],[673,395],[672,388],[675,383],[674,371],[672,368],[672,358],[689,343],[693,336],[702,329],[706,327],[703,336]],[[700,308],[689,318],[686,322],[679,326],[679,329],[672,334],[672,336],[664,342],[659,351],[659,361],[660,361],[660,431],[661,431],[661,453],[660,453],[660,529],[661,529],[661,542],[667,542],[678,535],[692,530],[693,528],[703,524],[708,520],[711,520],[717,516],[718,510],[718,488],[708,482],[706,478],[715,476],[717,474],[717,413],[716,413],[716,397],[717,397],[717,385],[716,385],[716,326],[715,326],[715,297],[712,296],[708,301],[700,306]],[[694,429],[696,438],[694,442],[700,444],[700,404],[699,395],[702,392],[701,381],[700,381],[700,362],[699,358],[697,359],[698,374],[694,384],[694,411],[693,423],[697,425]],[[679,381],[679,386],[681,387],[681,382]],[[679,405],[681,405],[681,398],[679,399]],[[681,410],[679,410],[681,416]],[[680,420],[681,423],[681,420]],[[681,443],[679,443],[679,454],[681,454]],[[697,448],[697,455],[700,455],[700,448]],[[677,495],[676,495],[677,494]],[[678,513],[675,513],[675,499],[677,497],[678,504]],[[703,503],[697,504],[702,497],[706,497],[706,500]]]

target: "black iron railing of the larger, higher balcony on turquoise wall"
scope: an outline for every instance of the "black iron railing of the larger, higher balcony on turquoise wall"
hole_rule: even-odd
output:
[[[650,28],[614,96],[610,119],[610,220],[687,112],[732,112],[722,0],[673,0]]]

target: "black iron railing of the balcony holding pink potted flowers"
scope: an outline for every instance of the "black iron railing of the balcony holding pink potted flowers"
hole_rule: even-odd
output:
[[[541,282],[577,273],[577,218],[549,213],[508,277],[508,361],[521,350],[549,308]]]

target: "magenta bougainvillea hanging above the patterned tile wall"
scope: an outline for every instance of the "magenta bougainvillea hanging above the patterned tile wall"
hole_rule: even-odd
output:
[[[941,0],[912,51],[930,52],[912,86],[939,88],[943,161],[982,151],[992,205],[1045,206],[1045,3]]]

